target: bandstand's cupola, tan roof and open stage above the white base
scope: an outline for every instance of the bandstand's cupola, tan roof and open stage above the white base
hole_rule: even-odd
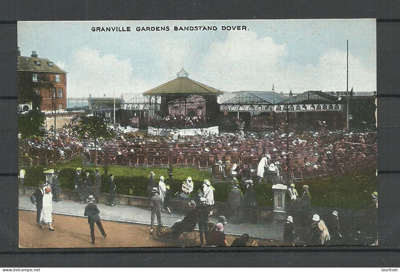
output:
[[[161,97],[161,116],[205,115],[209,121],[215,121],[219,113],[217,98],[223,92],[189,79],[189,74],[183,68],[176,75],[176,79],[144,92],[143,95]]]

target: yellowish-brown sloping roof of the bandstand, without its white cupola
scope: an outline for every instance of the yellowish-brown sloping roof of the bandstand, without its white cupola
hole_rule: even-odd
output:
[[[143,95],[222,95],[223,92],[187,77],[178,77],[153,88]]]

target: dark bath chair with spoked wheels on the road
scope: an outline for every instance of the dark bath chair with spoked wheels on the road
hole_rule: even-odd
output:
[[[182,236],[186,240],[196,240],[199,234],[194,231],[196,228],[198,211],[196,208],[190,210],[186,216],[178,219],[171,227],[162,226],[162,222],[158,221],[158,225],[154,228],[152,235],[154,239],[168,237],[178,240]]]

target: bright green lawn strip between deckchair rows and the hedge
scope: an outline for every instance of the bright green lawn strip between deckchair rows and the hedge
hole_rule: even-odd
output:
[[[82,158],[76,157],[71,159],[68,162],[58,163],[56,165],[58,169],[62,168],[82,168],[85,169],[96,169],[95,165],[82,163]],[[47,168],[52,168],[51,165],[47,166]],[[100,172],[104,173],[103,167],[98,166],[100,168]],[[182,166],[173,166],[172,167],[174,178],[175,179],[186,179],[188,176],[191,176],[193,180],[203,180],[203,179],[211,179],[210,171],[200,171],[197,167],[182,167]],[[121,165],[108,165],[108,171],[113,173],[114,175],[125,175],[125,176],[134,176],[134,175],[144,175],[148,176],[151,171],[154,171],[156,178],[163,175],[165,178],[168,178],[167,167],[139,167],[139,166],[121,166]]]

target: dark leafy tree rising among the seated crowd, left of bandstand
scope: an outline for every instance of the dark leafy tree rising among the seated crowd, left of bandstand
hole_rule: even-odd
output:
[[[71,124],[72,130],[81,138],[84,138],[86,133],[93,139],[109,138],[115,135],[110,121],[101,116],[78,115],[72,118]]]

